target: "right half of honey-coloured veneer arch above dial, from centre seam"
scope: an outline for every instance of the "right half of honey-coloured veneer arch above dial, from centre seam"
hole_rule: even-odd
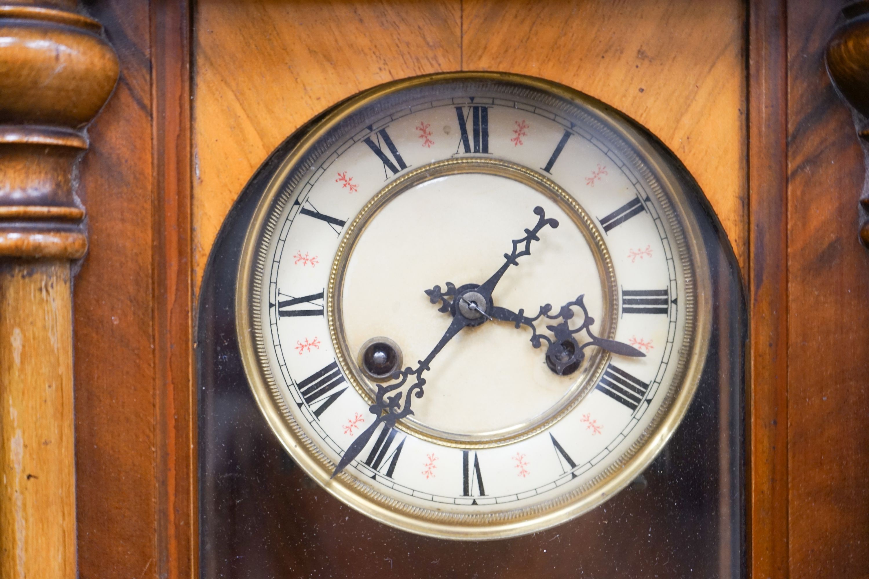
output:
[[[741,3],[465,0],[463,6],[463,69],[542,76],[634,117],[700,183],[745,266]]]

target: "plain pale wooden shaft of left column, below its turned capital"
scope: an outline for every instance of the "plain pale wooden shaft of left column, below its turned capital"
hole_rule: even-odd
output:
[[[76,574],[67,260],[0,266],[0,577]]]

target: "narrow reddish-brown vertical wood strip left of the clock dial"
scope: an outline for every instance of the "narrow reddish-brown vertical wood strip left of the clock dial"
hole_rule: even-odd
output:
[[[196,556],[190,232],[190,12],[187,0],[152,3],[154,102],[153,324],[156,376],[155,575],[194,575]]]

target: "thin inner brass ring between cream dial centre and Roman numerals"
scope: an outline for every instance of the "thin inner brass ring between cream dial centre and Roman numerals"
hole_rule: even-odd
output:
[[[604,338],[612,339],[615,336],[619,309],[617,304],[619,287],[615,280],[613,260],[609,255],[607,245],[604,243],[600,231],[594,225],[594,221],[567,191],[537,171],[522,167],[511,161],[503,161],[490,157],[456,157],[434,161],[401,175],[401,177],[389,183],[385,188],[382,188],[379,193],[375,194],[365,204],[365,207],[362,207],[362,211],[348,225],[341,244],[338,246],[338,251],[335,253],[335,260],[332,262],[332,270],[329,273],[325,304],[329,336],[335,345],[338,364],[341,365],[350,384],[353,385],[355,390],[359,392],[369,405],[374,404],[375,389],[370,384],[366,387],[366,382],[370,380],[363,378],[366,377],[366,373],[355,363],[355,357],[343,331],[342,293],[348,260],[365,227],[368,226],[368,223],[374,219],[375,215],[389,201],[409,188],[413,188],[425,181],[431,181],[432,179],[449,174],[462,173],[494,174],[519,181],[554,201],[556,205],[561,207],[574,220],[577,228],[586,238],[588,246],[592,248],[601,280],[600,289],[604,299],[602,319],[604,321],[603,326],[595,328],[595,330],[600,332],[600,335]],[[609,358],[608,352],[596,348],[587,358],[587,362],[583,365],[581,371],[574,376],[574,385],[571,386],[565,396],[556,405],[546,413],[534,417],[524,424],[516,424],[514,428],[506,432],[495,432],[489,437],[460,436],[453,433],[436,431],[434,428],[427,427],[410,417],[399,421],[395,425],[402,431],[408,432],[415,437],[454,448],[475,449],[511,444],[547,429],[572,411],[582,398],[585,398],[588,391],[594,388],[598,378],[600,378],[600,375],[605,370]],[[387,382],[388,380],[384,384]]]

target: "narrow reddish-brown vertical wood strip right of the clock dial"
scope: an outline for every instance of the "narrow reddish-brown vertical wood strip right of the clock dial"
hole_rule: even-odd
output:
[[[750,6],[749,569],[755,577],[778,578],[788,569],[785,0],[757,0]]]

